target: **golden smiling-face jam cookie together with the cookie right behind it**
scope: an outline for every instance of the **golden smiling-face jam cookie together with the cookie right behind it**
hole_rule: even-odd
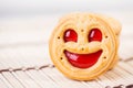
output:
[[[120,23],[101,14],[72,13],[52,32],[49,52],[66,77],[91,80],[117,62]]]

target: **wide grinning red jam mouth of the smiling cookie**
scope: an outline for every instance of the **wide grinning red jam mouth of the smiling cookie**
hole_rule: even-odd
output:
[[[76,54],[64,51],[64,54],[71,65],[79,68],[89,68],[98,62],[99,57],[102,54],[102,50],[91,54]]]

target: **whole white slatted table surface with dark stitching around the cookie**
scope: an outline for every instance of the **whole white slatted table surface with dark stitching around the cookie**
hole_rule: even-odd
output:
[[[133,12],[108,14],[117,18],[123,25],[119,51],[121,61],[114,69],[92,81],[65,78],[50,61],[48,41],[61,14],[0,18],[0,88],[112,88],[132,85]]]

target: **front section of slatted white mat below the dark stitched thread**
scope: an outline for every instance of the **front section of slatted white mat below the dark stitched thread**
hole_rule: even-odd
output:
[[[31,67],[29,67],[31,68]],[[133,84],[132,66],[126,62],[120,62],[112,70],[101,75],[98,79],[91,81],[75,81],[63,76],[54,67],[32,67],[32,69],[19,69],[2,72],[0,79],[8,84],[9,88],[105,88],[108,86],[115,87],[120,85]],[[130,70],[131,69],[131,70]],[[12,81],[13,80],[13,81]]]

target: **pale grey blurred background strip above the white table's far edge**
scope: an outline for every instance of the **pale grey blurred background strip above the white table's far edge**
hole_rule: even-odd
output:
[[[0,0],[0,15],[54,14],[73,11],[132,11],[132,0]]]

